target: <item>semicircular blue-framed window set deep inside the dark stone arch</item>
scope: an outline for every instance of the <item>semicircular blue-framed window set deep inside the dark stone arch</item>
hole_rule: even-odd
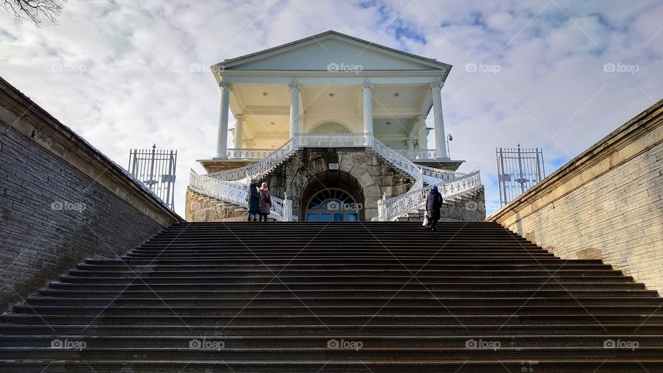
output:
[[[356,222],[361,204],[341,189],[324,189],[311,198],[305,211],[307,222]]]

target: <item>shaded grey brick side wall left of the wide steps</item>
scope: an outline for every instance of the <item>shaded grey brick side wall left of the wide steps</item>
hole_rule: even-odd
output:
[[[180,218],[0,79],[0,310]]]

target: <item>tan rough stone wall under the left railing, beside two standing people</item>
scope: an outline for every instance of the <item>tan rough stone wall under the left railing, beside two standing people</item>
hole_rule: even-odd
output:
[[[186,188],[184,216],[188,222],[237,221],[246,220],[247,209]]]

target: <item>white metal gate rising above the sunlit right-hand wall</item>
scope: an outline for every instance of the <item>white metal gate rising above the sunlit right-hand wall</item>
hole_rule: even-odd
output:
[[[546,177],[544,153],[541,149],[499,148],[497,152],[497,184],[499,205],[504,206],[532,185]]]

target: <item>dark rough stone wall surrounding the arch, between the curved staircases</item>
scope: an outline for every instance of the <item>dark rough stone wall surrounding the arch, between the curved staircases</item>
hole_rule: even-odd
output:
[[[367,149],[304,149],[263,178],[273,195],[282,198],[287,193],[293,201],[293,214],[300,216],[301,195],[309,180],[318,173],[329,170],[330,163],[338,163],[338,169],[352,175],[363,189],[364,219],[378,216],[378,200],[401,195],[412,187],[410,175],[394,168]],[[359,201],[358,201],[359,202]]]

